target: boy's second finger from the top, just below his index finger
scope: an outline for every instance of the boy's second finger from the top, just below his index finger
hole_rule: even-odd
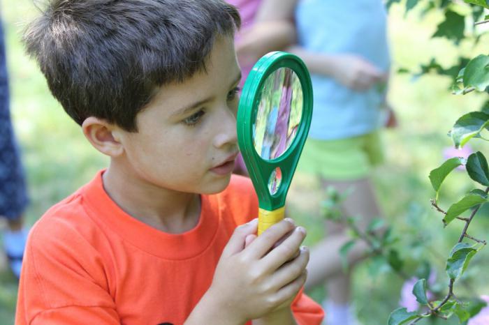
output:
[[[296,227],[291,235],[278,245],[277,248],[274,248],[263,257],[263,262],[267,263],[272,269],[278,269],[296,254],[305,236],[305,228]]]

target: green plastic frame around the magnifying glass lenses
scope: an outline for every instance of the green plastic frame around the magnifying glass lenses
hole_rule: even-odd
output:
[[[302,118],[291,146],[282,156],[273,160],[264,160],[258,155],[253,144],[254,112],[256,112],[260,103],[261,89],[265,80],[279,68],[290,68],[300,81],[303,96]],[[312,83],[309,71],[304,62],[293,54],[286,52],[265,54],[256,62],[247,77],[238,107],[238,144],[245,160],[249,177],[258,195],[258,205],[261,209],[273,211],[285,204],[295,167],[297,167],[302,147],[307,139],[307,133],[309,133],[312,118],[312,100]],[[271,195],[268,190],[268,180],[277,167],[282,171],[282,182],[279,190],[274,195]]]

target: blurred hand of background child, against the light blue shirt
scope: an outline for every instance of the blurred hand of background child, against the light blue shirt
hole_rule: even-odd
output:
[[[335,80],[356,91],[366,91],[378,82],[385,82],[387,79],[386,73],[382,73],[372,63],[356,55],[335,56],[334,66]]]

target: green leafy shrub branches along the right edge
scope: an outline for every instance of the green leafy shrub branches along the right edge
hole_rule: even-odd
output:
[[[388,6],[399,1],[388,1]],[[456,2],[456,3],[455,3]],[[442,10],[444,20],[438,25],[433,38],[446,38],[451,40],[455,45],[466,41],[472,41],[473,44],[479,42],[481,34],[476,33],[474,24],[467,22],[476,22],[475,25],[489,23],[489,15],[484,15],[484,10],[489,9],[487,0],[465,0],[464,6],[459,1],[449,0],[430,0],[423,2],[425,6],[423,14],[430,10]],[[405,13],[408,13],[416,6],[420,6],[421,1],[407,1]],[[471,27],[470,29],[468,27]],[[469,30],[472,30],[471,35],[467,35]],[[489,56],[487,54],[476,54],[473,59],[460,56],[458,63],[451,68],[444,68],[435,58],[432,58],[428,64],[421,65],[421,72],[416,73],[415,77],[421,77],[428,73],[437,73],[438,75],[448,75],[453,78],[452,93],[467,94],[472,92],[489,93]],[[409,72],[407,69],[400,69],[402,72]],[[456,71],[456,72],[455,72]],[[480,111],[469,112],[463,114],[455,122],[453,128],[448,135],[453,140],[456,149],[460,149],[472,139],[485,139],[483,131],[489,129],[489,100],[483,105]],[[469,191],[458,202],[451,204],[445,212],[438,206],[439,191],[444,183],[444,180],[451,174],[453,170],[460,165],[465,165],[467,176],[472,181],[475,181],[481,186],[485,186],[486,190],[475,188]],[[388,319],[388,324],[415,324],[423,317],[441,317],[442,319],[450,319],[453,315],[458,317],[460,324],[467,324],[471,317],[474,317],[484,303],[479,299],[472,301],[461,301],[455,298],[453,288],[455,281],[459,280],[462,274],[467,271],[469,262],[481,248],[486,245],[486,241],[476,239],[467,234],[469,225],[474,220],[476,213],[479,211],[482,204],[488,201],[489,192],[489,168],[486,157],[481,151],[472,153],[467,160],[461,157],[449,158],[439,167],[433,169],[429,175],[432,188],[436,192],[436,197],[432,200],[432,205],[437,211],[444,214],[444,225],[448,225],[454,220],[465,222],[458,242],[453,246],[448,259],[446,260],[446,274],[448,275],[449,285],[448,293],[443,299],[431,301],[427,294],[427,281],[421,278],[416,282],[413,288],[413,295],[416,301],[425,307],[428,307],[428,312],[418,315],[416,312],[407,312],[405,308],[398,308],[391,313]],[[468,216],[462,216],[467,213]],[[472,243],[467,243],[464,240],[469,239]],[[427,276],[424,273],[425,277]],[[478,303],[479,301],[479,303]]]

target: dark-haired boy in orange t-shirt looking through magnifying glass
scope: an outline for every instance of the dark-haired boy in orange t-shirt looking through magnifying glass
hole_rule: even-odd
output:
[[[27,51],[110,165],[32,229],[16,324],[321,322],[300,293],[304,229],[256,238],[251,184],[231,178],[239,24],[220,0],[53,0],[30,25]]]

